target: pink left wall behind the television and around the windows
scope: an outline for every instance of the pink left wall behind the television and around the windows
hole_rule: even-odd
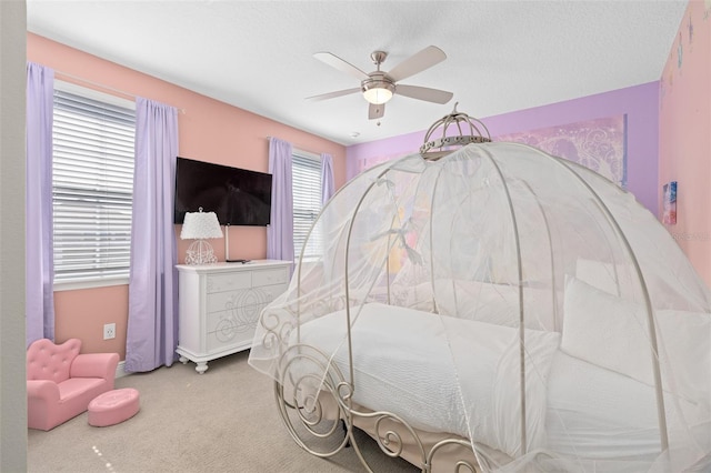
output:
[[[184,112],[178,118],[180,155],[219,164],[267,172],[269,168],[267,137],[290,141],[294,148],[333,157],[337,189],[346,182],[344,147],[268,120],[263,117],[212,100],[166,81],[118,66],[46,38],[28,33],[29,61],[56,70],[58,79],[78,82],[70,76],[100,83],[107,88],[163,102]],[[177,234],[180,228],[177,227]],[[178,258],[184,260],[188,242],[178,239]],[[216,241],[218,259],[224,258],[224,245]],[[267,254],[267,230],[253,227],[230,229],[232,258],[260,259]],[[83,341],[82,351],[116,351],[124,359],[128,316],[127,286],[61,291],[56,293],[56,335]],[[104,323],[116,322],[118,336],[102,340]]]

